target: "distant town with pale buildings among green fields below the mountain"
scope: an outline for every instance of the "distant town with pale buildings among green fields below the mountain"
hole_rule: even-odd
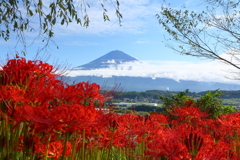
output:
[[[161,91],[161,90],[149,90],[146,92],[116,92],[116,98],[109,104],[113,106],[113,109],[118,113],[131,112],[132,110],[138,112],[138,114],[146,115],[150,112],[164,111],[162,106],[162,100],[159,98],[169,97],[174,94],[178,94],[177,91]],[[194,98],[200,98],[205,95],[204,92],[189,92],[189,96]],[[226,106],[233,106],[235,109],[240,110],[240,91],[222,91],[222,104]]]

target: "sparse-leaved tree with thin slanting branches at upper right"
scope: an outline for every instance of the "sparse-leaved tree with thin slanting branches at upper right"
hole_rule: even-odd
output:
[[[183,55],[220,60],[240,69],[240,1],[202,2],[206,6],[202,12],[162,5],[157,18],[171,37],[166,40],[176,42],[168,41],[166,46]],[[230,58],[223,57],[223,52]]]

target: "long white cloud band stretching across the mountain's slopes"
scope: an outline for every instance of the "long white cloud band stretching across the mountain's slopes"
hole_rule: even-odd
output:
[[[68,76],[132,76],[132,77],[151,77],[171,78],[179,80],[193,80],[203,82],[223,82],[240,84],[239,81],[231,80],[231,66],[219,63],[218,61],[192,63],[183,61],[144,61],[128,62],[110,68],[96,70],[75,70]],[[236,70],[235,70],[236,71]]]

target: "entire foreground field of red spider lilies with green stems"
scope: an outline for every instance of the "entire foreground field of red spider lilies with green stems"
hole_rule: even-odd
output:
[[[0,72],[0,159],[240,159],[240,112],[211,119],[187,101],[169,115],[105,113],[99,85],[68,85],[42,61],[16,57]]]

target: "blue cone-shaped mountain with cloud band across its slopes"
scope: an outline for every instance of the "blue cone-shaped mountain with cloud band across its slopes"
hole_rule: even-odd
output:
[[[159,73],[151,72],[147,69],[146,74],[144,62],[122,52],[111,51],[102,57],[87,64],[77,66],[72,69],[68,78],[68,83],[88,81],[99,85],[114,86],[121,84],[124,91],[146,91],[146,90],[171,90],[184,91],[189,89],[191,92],[201,92],[207,90],[240,90],[240,85],[206,82],[195,80],[175,80],[164,77],[168,68],[161,68],[163,76],[156,76]],[[145,70],[144,70],[145,69]],[[171,73],[173,75],[178,72]]]

